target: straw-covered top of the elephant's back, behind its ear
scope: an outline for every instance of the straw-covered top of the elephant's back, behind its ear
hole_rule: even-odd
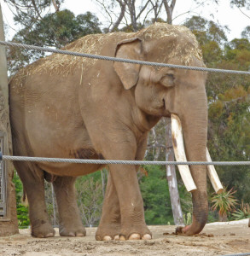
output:
[[[134,33],[113,32],[109,34],[91,34],[67,44],[63,50],[85,53],[90,55],[114,55],[115,45],[125,39],[131,38]],[[110,49],[107,52],[107,49]],[[104,53],[103,53],[104,51]],[[60,75],[64,78],[80,70],[84,73],[88,67],[93,67],[97,59],[84,58],[73,55],[52,54],[34,61],[31,65],[22,68],[15,74],[11,84],[22,87],[26,78],[34,75]]]

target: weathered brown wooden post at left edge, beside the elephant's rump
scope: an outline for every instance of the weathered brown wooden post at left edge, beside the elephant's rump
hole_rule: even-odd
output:
[[[3,15],[0,4],[0,40],[4,41]],[[11,131],[9,124],[9,87],[7,74],[6,49],[0,46],[0,131],[2,134],[3,154],[12,153]],[[4,152],[3,152],[4,150]],[[3,179],[2,195],[5,197],[5,211],[0,217],[0,236],[9,236],[18,233],[18,221],[16,216],[15,185],[12,183],[14,166],[11,162],[4,162],[2,165]]]

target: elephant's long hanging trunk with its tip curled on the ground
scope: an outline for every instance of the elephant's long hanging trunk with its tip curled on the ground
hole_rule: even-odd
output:
[[[197,103],[197,102],[196,102]],[[193,109],[180,116],[188,161],[206,161],[207,109],[206,100],[193,104]],[[193,222],[183,228],[183,233],[192,236],[204,228],[208,214],[206,193],[206,166],[190,166],[197,189],[192,191]]]

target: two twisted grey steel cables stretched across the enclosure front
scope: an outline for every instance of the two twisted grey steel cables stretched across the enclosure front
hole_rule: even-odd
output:
[[[140,65],[148,65],[154,67],[172,67],[172,68],[180,68],[187,70],[195,70],[202,72],[213,72],[213,73],[232,73],[232,74],[244,74],[250,75],[250,71],[239,71],[239,70],[228,70],[228,69],[218,69],[218,68],[207,68],[207,67],[191,67],[191,66],[182,66],[182,65],[173,65],[166,63],[158,63],[158,62],[150,62],[150,61],[136,61],[129,60],[123,58],[116,58],[104,55],[90,55],[79,52],[73,52],[63,49],[52,49],[49,47],[40,47],[29,44],[18,44],[13,42],[5,42],[0,41],[0,45],[9,46],[9,47],[18,47],[22,49],[34,49],[43,52],[51,52],[56,54],[63,55],[73,55],[91,59],[99,59],[103,61],[119,61],[126,62],[131,64],[140,64]],[[3,155],[0,153],[0,160],[19,160],[19,161],[37,161],[37,162],[56,162],[56,163],[75,163],[75,164],[117,164],[117,165],[174,165],[174,166],[250,166],[250,161],[206,161],[206,162],[198,162],[198,161],[139,161],[139,160],[83,160],[83,159],[61,159],[61,158],[44,158],[44,157],[28,157],[28,156],[11,156],[11,155]]]

